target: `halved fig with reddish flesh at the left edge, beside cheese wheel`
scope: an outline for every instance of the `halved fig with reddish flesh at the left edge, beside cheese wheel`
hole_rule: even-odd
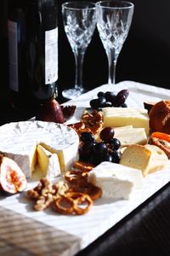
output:
[[[9,194],[24,191],[27,186],[25,174],[14,160],[6,156],[0,157],[0,189]]]

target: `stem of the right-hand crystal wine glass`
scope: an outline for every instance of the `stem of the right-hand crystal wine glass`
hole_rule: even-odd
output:
[[[116,83],[116,60],[117,57],[115,53],[108,54],[108,66],[109,66],[109,74],[108,74],[108,84]]]

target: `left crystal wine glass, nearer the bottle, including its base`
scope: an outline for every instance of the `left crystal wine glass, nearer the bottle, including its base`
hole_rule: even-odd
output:
[[[96,26],[95,3],[67,2],[62,4],[65,33],[71,44],[76,62],[75,87],[63,90],[62,95],[73,99],[84,91],[82,85],[82,67],[85,51],[94,34]]]

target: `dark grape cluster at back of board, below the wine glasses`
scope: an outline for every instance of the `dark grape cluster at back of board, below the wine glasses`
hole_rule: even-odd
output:
[[[90,107],[94,109],[106,107],[127,108],[126,100],[128,95],[128,90],[120,90],[117,94],[113,91],[99,91],[98,97],[89,102]]]

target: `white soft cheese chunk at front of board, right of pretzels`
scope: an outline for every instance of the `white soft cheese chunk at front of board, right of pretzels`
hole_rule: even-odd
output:
[[[133,187],[143,183],[140,170],[102,162],[88,173],[88,182],[102,189],[103,198],[128,199]]]

